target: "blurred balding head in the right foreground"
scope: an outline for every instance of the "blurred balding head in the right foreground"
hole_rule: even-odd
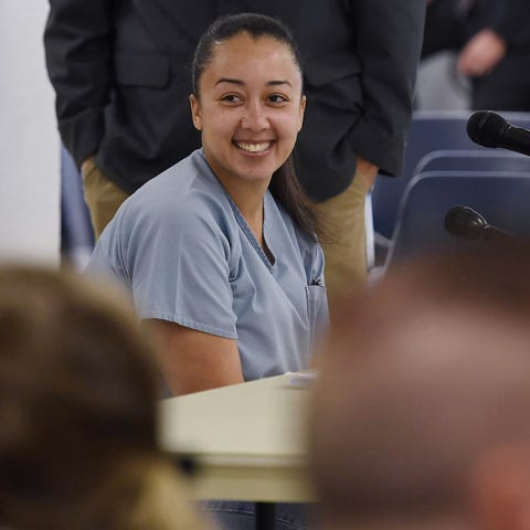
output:
[[[324,528],[530,528],[530,252],[389,273],[325,346],[311,425]]]

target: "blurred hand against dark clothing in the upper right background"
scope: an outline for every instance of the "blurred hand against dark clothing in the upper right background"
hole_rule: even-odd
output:
[[[491,72],[506,55],[506,41],[492,30],[474,35],[458,55],[457,68],[469,77],[480,77]]]

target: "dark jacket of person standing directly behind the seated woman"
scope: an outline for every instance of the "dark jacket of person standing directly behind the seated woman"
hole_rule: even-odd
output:
[[[200,3],[200,6],[199,6]],[[200,145],[188,95],[199,36],[219,14],[283,19],[304,59],[299,177],[315,200],[344,190],[356,153],[401,170],[425,0],[50,0],[44,33],[59,128],[132,192]]]

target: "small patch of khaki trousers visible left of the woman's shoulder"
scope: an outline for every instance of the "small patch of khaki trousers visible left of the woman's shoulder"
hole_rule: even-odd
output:
[[[83,165],[83,189],[97,240],[129,194],[110,182],[93,158]]]

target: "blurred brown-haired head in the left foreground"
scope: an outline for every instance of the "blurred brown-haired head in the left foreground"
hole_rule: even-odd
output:
[[[0,266],[0,526],[198,528],[157,449],[158,375],[108,286]]]

